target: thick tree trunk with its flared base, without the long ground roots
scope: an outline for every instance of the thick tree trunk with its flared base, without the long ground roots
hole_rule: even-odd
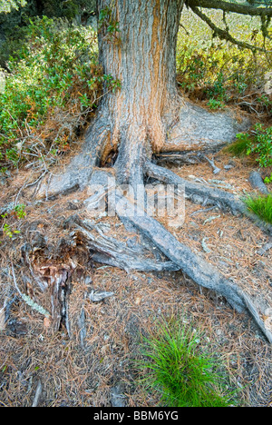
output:
[[[234,117],[211,114],[180,95],[176,47],[183,5],[183,0],[97,0],[103,74],[121,87],[112,91],[105,84],[83,151],[38,196],[83,189],[93,167],[103,166],[112,153],[117,182],[135,190],[153,153],[213,152],[246,129]]]

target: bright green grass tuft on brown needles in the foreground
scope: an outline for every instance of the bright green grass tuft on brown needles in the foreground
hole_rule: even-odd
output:
[[[199,349],[199,333],[185,324],[160,321],[155,333],[143,339],[137,368],[144,371],[141,385],[160,395],[168,407],[227,407],[219,394],[217,361]]]

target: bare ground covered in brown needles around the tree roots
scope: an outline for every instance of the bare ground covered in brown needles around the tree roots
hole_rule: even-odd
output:
[[[206,162],[171,169],[184,178],[204,179],[239,195],[254,192],[248,183],[253,167],[248,159],[232,158],[223,152],[211,158],[221,173],[215,175]],[[232,168],[225,170],[224,166],[229,164]],[[1,207],[15,201],[26,178],[27,174],[20,172],[10,186],[3,187]],[[211,182],[215,180],[218,182]],[[21,290],[49,309],[50,293],[42,293],[38,285],[33,287],[23,280],[26,271],[21,248],[32,241],[35,232],[57,244],[65,234],[59,223],[73,213],[81,214],[85,198],[86,193],[73,193],[34,204],[26,192],[20,193],[20,203],[27,205],[26,218],[17,222],[21,233],[0,245],[0,311],[6,299],[16,297],[5,324],[2,314],[0,405],[32,406],[40,383],[41,407],[107,407],[120,403],[131,407],[156,406],[159,400],[137,383],[140,377],[135,361],[141,358],[142,335],[152,332],[154,322],[163,315],[188,321],[204,332],[200,346],[224,361],[229,389],[239,389],[239,405],[272,407],[271,347],[263,334],[248,314],[236,313],[224,299],[214,292],[200,290],[182,272],[127,273],[98,263],[84,263],[83,257],[79,264],[83,275],[73,277],[69,297],[70,337],[64,326],[53,332],[50,322],[26,305],[15,290],[11,262],[17,264],[16,270],[19,266],[22,281],[17,284]],[[117,218],[103,217],[99,222],[107,235],[124,242],[138,238],[137,234],[127,232]],[[161,222],[167,226],[167,221]],[[187,201],[184,225],[174,234],[238,282],[262,310],[264,302],[267,309],[271,308],[272,251],[261,254],[269,237],[253,222]],[[90,288],[114,295],[102,302],[92,302],[85,299]],[[77,326],[82,310],[86,326],[84,346]],[[271,318],[264,320],[272,325]]]

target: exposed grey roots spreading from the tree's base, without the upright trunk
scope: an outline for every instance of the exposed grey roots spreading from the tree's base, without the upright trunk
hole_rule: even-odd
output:
[[[172,123],[172,120],[170,121]],[[180,128],[181,123],[182,128]],[[242,124],[244,129],[247,125],[248,122]],[[208,146],[213,150],[219,149],[222,144],[232,142],[241,128],[229,115],[209,114],[199,107],[187,104],[184,108],[181,108],[179,123],[172,125],[167,133],[169,137],[164,146],[167,146],[167,149],[170,150],[175,146],[176,149],[184,149],[186,153],[196,148],[200,149],[200,147],[206,150]],[[244,203],[234,195],[201,184],[186,182],[169,170],[151,163],[151,149],[146,148],[148,146],[148,134],[143,129],[141,130],[137,125],[130,125],[129,128],[121,130],[122,137],[128,137],[127,143],[124,143],[122,138],[116,163],[114,163],[112,170],[104,173],[99,170],[99,164],[102,158],[105,159],[105,154],[111,152],[111,149],[116,152],[116,145],[111,144],[111,128],[105,121],[105,114],[98,115],[88,132],[83,152],[73,158],[65,173],[53,176],[50,182],[45,183],[38,196],[43,197],[46,194],[48,198],[75,189],[83,190],[89,185],[92,186],[92,189],[93,184],[100,184],[102,193],[94,194],[85,202],[88,210],[88,208],[93,207],[93,203],[97,203],[101,197],[112,191],[112,188],[108,187],[106,183],[109,175],[114,175],[118,184],[130,183],[132,189],[136,189],[139,184],[143,183],[145,176],[148,176],[162,183],[183,184],[186,193],[192,196],[192,200],[193,196],[197,194],[203,198],[203,202],[205,200],[206,203],[217,205],[230,213],[247,213]],[[135,143],[135,140],[131,143],[133,135],[137,143]],[[201,140],[201,143],[196,143],[196,140]],[[185,142],[187,143],[186,148]],[[267,340],[272,342],[272,333],[267,330],[265,323],[257,313],[254,302],[250,300],[246,293],[242,292],[234,282],[228,281],[209,263],[204,262],[198,255],[191,252],[188,247],[178,242],[170,232],[148,214],[143,211],[140,215],[132,213],[133,204],[118,191],[116,192],[116,188],[113,190],[119,201],[119,207],[122,206],[121,212],[118,211],[118,207],[116,210],[121,220],[130,222],[138,232],[148,238],[151,245],[156,246],[162,252],[164,261],[155,264],[137,255],[135,256],[135,252],[127,252],[121,242],[110,242],[106,241],[105,238],[97,239],[93,237],[93,229],[92,226],[90,228],[88,222],[78,222],[78,219],[73,221],[72,218],[77,232],[80,232],[83,237],[83,245],[86,249],[92,251],[93,258],[97,262],[104,262],[127,271],[131,269],[158,271],[178,268],[199,286],[208,288],[225,297],[236,311],[249,311],[259,328],[266,335]],[[130,213],[128,214],[128,212]],[[266,230],[272,234],[271,229]]]

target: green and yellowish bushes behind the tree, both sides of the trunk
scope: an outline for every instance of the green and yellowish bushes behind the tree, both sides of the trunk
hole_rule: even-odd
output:
[[[90,21],[82,19],[84,13],[90,17],[93,2],[76,2],[73,7],[73,2],[59,2],[55,8],[51,3],[44,2],[43,13],[52,15],[54,10],[55,15],[66,17],[28,16],[25,25],[24,15],[24,25],[12,35],[7,32],[0,49],[5,61],[0,93],[2,173],[34,159],[54,163],[78,140],[102,94],[102,84],[109,89],[119,85],[111,75],[102,75],[96,33]],[[209,12],[209,16],[224,25],[220,12]],[[259,26],[258,18],[240,15],[231,15],[228,22],[236,38],[264,47]],[[259,119],[271,116],[265,85],[272,55],[266,43],[267,51],[260,53],[215,39],[208,25],[185,10],[177,53],[180,88],[211,110],[237,105]],[[268,146],[260,154],[261,165],[266,161],[263,154],[271,154],[271,133],[267,129],[262,133],[267,133]],[[256,143],[249,149],[256,153]]]

